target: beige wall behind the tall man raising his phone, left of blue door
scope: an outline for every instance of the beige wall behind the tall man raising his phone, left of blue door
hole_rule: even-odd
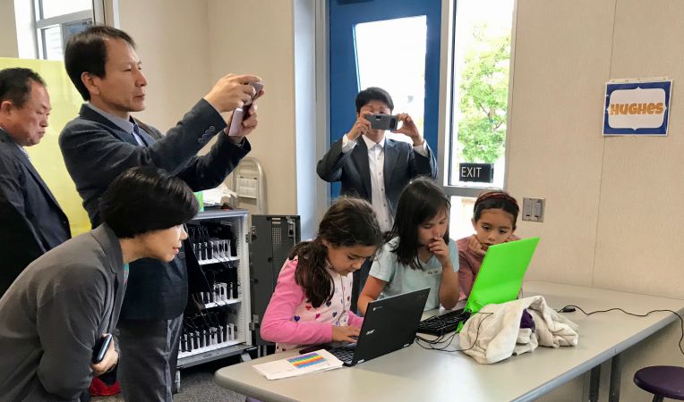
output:
[[[173,127],[228,72],[261,76],[266,96],[259,101],[250,156],[260,160],[267,177],[266,212],[297,214],[293,0],[117,5],[118,28],[136,40],[148,78],[146,110],[136,116],[159,130]],[[7,33],[0,37],[0,56],[17,56],[13,14],[13,1],[0,2],[0,27]]]

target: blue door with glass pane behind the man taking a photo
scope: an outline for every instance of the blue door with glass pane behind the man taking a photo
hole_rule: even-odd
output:
[[[437,155],[441,0],[329,0],[328,10],[330,143],[354,124],[356,94],[380,87]],[[339,183],[330,192],[337,197]]]

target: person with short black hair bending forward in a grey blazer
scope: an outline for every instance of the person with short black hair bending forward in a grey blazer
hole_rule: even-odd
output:
[[[118,360],[116,338],[102,361],[93,355],[98,339],[115,335],[134,281],[129,264],[174,259],[187,238],[183,223],[198,209],[191,189],[167,172],[138,167],[117,178],[102,197],[103,223],[39,257],[0,298],[0,399],[90,400],[92,377],[112,375]]]

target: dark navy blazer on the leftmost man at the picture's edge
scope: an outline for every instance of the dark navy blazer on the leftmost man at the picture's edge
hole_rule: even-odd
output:
[[[69,221],[50,189],[0,129],[0,297],[31,261],[69,238]]]

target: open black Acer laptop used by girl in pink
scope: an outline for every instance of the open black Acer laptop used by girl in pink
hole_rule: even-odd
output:
[[[372,301],[355,343],[320,345],[304,348],[300,353],[324,348],[345,365],[352,366],[406,348],[414,343],[429,294],[430,288],[425,288]]]

